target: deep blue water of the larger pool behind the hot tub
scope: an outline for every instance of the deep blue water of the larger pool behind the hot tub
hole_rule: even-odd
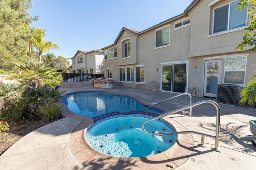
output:
[[[145,105],[142,105],[132,97],[95,91],[70,93],[64,103],[70,111],[86,117],[96,117],[104,113],[118,111],[120,113],[142,111],[142,109],[146,108]],[[149,108],[145,111],[162,113],[162,111],[154,108]]]

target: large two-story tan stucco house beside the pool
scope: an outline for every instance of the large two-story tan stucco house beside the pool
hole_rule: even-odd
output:
[[[105,77],[120,86],[198,97],[216,97],[221,83],[244,87],[256,71],[256,52],[235,49],[250,20],[237,6],[194,0],[184,13],[144,31],[122,28],[102,48]]]

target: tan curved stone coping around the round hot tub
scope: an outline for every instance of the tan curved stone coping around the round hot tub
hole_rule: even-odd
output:
[[[94,123],[94,119],[73,113],[64,103],[58,105],[62,107],[64,117],[81,122],[70,135],[69,147],[73,156],[88,168],[111,169],[120,166],[122,169],[126,165],[129,169],[164,169],[168,168],[166,164],[175,168],[186,162],[193,152],[194,140],[191,134],[177,134],[177,141],[171,148],[153,156],[125,158],[98,152],[85,140],[85,132]],[[175,115],[166,116],[162,120],[168,122],[176,131],[187,131],[183,125],[171,119],[173,116]]]

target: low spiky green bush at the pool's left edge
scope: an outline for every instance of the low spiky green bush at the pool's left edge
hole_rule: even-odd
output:
[[[56,121],[61,114],[61,108],[54,102],[38,105],[35,109],[36,115],[43,121]]]

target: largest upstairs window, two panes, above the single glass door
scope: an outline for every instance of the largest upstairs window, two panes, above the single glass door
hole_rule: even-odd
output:
[[[238,2],[232,2],[214,10],[213,33],[246,26],[247,10],[236,10]]]

